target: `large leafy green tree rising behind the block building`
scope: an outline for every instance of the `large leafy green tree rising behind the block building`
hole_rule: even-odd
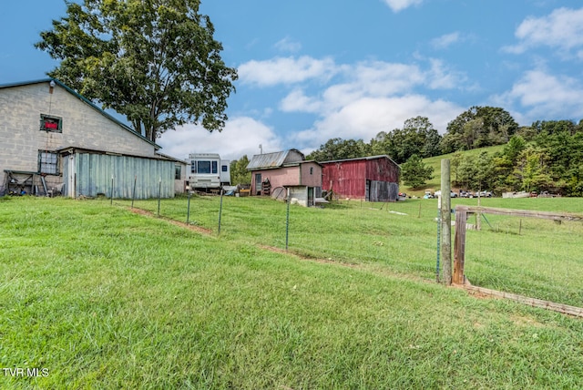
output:
[[[220,57],[199,0],[66,1],[66,17],[36,47],[60,60],[49,72],[125,115],[155,141],[169,128],[221,130],[237,71]]]

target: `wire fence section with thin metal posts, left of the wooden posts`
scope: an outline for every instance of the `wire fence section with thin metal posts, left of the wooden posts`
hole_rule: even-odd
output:
[[[435,278],[436,200],[341,200],[305,208],[261,197],[184,196],[116,204],[198,226],[225,240]]]

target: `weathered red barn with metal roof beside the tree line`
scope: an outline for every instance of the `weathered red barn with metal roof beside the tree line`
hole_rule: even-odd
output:
[[[401,169],[388,156],[337,159],[322,164],[322,190],[341,198],[395,201]]]

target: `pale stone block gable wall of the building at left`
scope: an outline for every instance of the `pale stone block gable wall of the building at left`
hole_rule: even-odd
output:
[[[5,170],[45,172],[47,187],[62,183],[59,149],[159,158],[158,145],[57,80],[0,86],[0,118],[0,195]]]

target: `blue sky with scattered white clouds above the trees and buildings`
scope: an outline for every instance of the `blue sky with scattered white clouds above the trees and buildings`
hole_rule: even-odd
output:
[[[0,84],[46,77],[33,44],[63,0],[3,2]],[[227,159],[363,139],[424,116],[444,133],[472,106],[520,125],[583,118],[583,4],[568,0],[203,0],[237,93],[220,133],[188,125],[158,143]]]

